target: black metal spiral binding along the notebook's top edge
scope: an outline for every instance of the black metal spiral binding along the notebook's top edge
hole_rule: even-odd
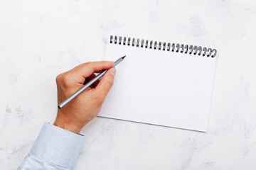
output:
[[[201,55],[207,57],[215,57],[217,55],[217,50],[211,49],[210,47],[201,47],[197,45],[184,45],[179,43],[170,43],[170,42],[157,42],[153,40],[140,40],[139,38],[127,38],[122,36],[113,36],[110,35],[110,43],[119,44],[119,45],[128,45],[134,47],[144,47],[154,50],[163,50],[163,51],[171,51],[171,52],[181,52],[185,54],[193,55]]]

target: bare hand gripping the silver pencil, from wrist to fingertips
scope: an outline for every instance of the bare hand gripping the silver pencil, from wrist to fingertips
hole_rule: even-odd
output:
[[[87,88],[70,103],[58,109],[56,125],[70,132],[79,133],[90,120],[100,112],[102,103],[114,83],[116,72],[114,62],[87,62],[56,77],[58,104],[75,93],[84,84],[95,77],[95,72],[109,69],[101,80]]]

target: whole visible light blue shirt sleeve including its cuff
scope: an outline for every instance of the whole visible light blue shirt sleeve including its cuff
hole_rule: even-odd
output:
[[[85,137],[45,123],[18,170],[73,169]]]

